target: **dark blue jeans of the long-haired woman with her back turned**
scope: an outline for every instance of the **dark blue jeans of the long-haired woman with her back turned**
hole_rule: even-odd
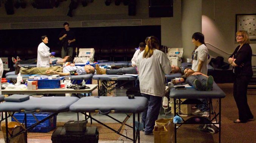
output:
[[[148,107],[142,112],[142,123],[145,125],[145,133],[152,133],[160,113],[162,97],[153,96],[141,93],[141,95],[148,99]]]

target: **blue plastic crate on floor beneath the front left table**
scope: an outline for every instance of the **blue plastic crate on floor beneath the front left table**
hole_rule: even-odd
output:
[[[34,113],[37,120],[43,120],[46,117],[48,117],[51,113],[49,112],[41,112],[41,113]],[[36,123],[36,120],[32,114],[26,114],[27,115],[27,126],[31,126],[34,123]],[[15,113],[14,117],[19,120],[20,123],[25,124],[24,120],[24,113]],[[24,121],[23,121],[24,120]],[[12,121],[15,122],[15,120],[12,118]],[[33,129],[29,130],[30,132],[49,132],[52,129],[56,128],[56,121],[57,121],[57,115],[51,117],[48,120],[45,120],[45,122],[40,123],[39,125],[35,126]]]

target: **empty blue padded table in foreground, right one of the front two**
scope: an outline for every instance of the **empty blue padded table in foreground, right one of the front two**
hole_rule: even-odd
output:
[[[111,129],[112,131],[116,132],[123,137],[126,137],[136,143],[140,140],[140,133],[139,130],[135,131],[135,116],[137,113],[137,121],[139,122],[140,113],[142,113],[145,108],[147,108],[148,99],[145,97],[135,97],[134,99],[128,99],[126,96],[119,96],[119,97],[112,97],[112,96],[89,96],[83,97],[79,99],[74,104],[70,105],[69,111],[72,112],[80,112],[85,114],[86,117],[95,120],[96,122],[106,126],[107,128]],[[86,112],[89,113],[101,113],[114,119],[113,117],[109,116],[109,113],[130,113],[127,114],[126,118],[123,122],[120,122],[117,119],[117,122],[121,123],[120,128],[118,130],[113,129],[104,123],[100,122],[99,120],[93,118],[91,114],[87,115]],[[133,126],[129,126],[126,124],[128,118],[133,114]],[[123,125],[129,126],[133,128],[133,138],[128,137],[127,135],[120,134],[120,130],[122,129]]]

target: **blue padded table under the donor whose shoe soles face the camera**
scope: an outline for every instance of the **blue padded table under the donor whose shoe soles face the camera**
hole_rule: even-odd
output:
[[[221,98],[224,98],[226,95],[225,93],[217,86],[217,84],[213,83],[213,90],[211,91],[198,91],[194,88],[186,88],[185,90],[176,90],[174,87],[170,89],[170,98],[174,99],[174,107],[180,107],[181,104],[199,104],[199,100],[197,99],[208,99],[208,108],[210,116],[209,118],[200,117],[200,116],[193,116],[190,117],[187,120],[182,119],[183,123],[177,123],[174,124],[174,134],[175,134],[175,143],[176,143],[176,136],[177,136],[177,129],[180,128],[183,124],[213,124],[213,125],[219,125],[221,127]],[[177,99],[177,100],[176,100]],[[181,101],[180,99],[186,99],[185,101]],[[213,107],[212,107],[212,99],[218,99],[219,100],[219,113],[216,113],[214,111],[213,113]],[[176,106],[177,105],[177,106]],[[176,111],[176,108],[174,108],[174,116],[179,116],[179,111]],[[211,117],[211,114],[214,114],[214,117]],[[219,116],[219,119],[217,119],[217,116]],[[213,120],[216,120],[216,123],[213,123]],[[179,125],[179,126],[177,126]],[[176,128],[177,126],[177,128]],[[219,128],[219,143],[221,142],[221,128]]]

